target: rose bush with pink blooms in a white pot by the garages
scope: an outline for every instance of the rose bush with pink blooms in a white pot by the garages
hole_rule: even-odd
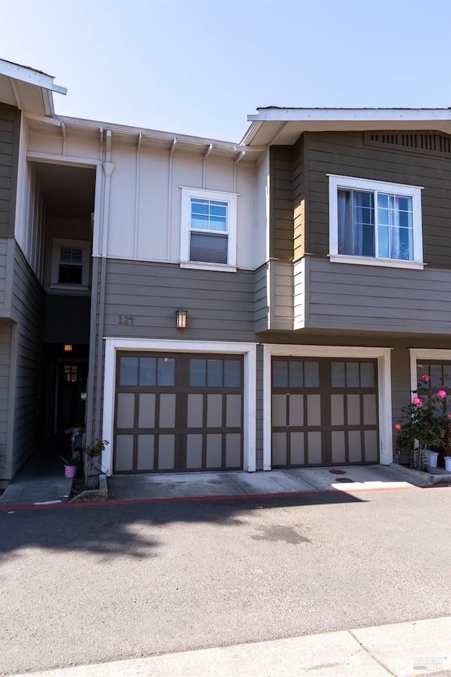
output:
[[[443,411],[446,397],[443,388],[436,393],[419,396],[419,392],[424,391],[430,381],[428,374],[421,375],[417,389],[412,391],[412,402],[403,409],[402,422],[395,426],[399,434],[398,446],[402,451],[412,454],[412,468],[419,470],[424,470],[426,465],[426,451],[445,444],[447,424],[451,417]]]

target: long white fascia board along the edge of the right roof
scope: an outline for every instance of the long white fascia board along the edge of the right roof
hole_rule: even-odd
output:
[[[375,122],[406,122],[406,121],[450,121],[451,109],[346,109],[346,108],[277,108],[258,109],[257,115],[247,115],[248,122],[261,123],[271,122],[352,122],[352,121],[375,121]],[[252,126],[247,134],[252,131]]]

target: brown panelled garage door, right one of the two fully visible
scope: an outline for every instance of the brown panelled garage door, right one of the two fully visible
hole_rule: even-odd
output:
[[[272,467],[378,463],[376,360],[273,358]]]

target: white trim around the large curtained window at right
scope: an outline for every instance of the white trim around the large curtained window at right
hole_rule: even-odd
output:
[[[421,221],[421,190],[423,186],[404,185],[371,181],[366,178],[326,174],[329,177],[329,259],[335,263],[353,263],[362,266],[383,266],[388,268],[424,269],[423,263],[423,226]],[[382,259],[367,256],[352,256],[338,253],[338,188],[356,188],[357,190],[378,190],[384,193],[397,193],[412,197],[414,220],[414,260]]]

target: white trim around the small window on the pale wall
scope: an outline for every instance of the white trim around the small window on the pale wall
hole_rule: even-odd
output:
[[[223,193],[218,190],[204,190],[203,188],[187,188],[180,185],[182,190],[182,223],[180,230],[180,267],[193,269],[209,269],[223,272],[236,272],[237,264],[237,193]],[[228,241],[227,264],[215,264],[202,261],[190,261],[190,231],[191,231],[191,198],[200,200],[218,200],[228,203]]]

